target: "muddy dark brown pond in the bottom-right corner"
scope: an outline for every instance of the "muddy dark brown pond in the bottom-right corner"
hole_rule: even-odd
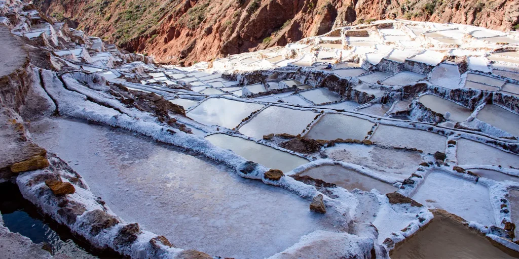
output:
[[[519,258],[519,253],[500,246],[475,229],[445,215],[435,214],[434,219],[423,230],[397,244],[390,257]]]

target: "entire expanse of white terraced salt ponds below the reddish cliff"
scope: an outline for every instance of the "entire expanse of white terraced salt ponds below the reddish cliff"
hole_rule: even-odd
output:
[[[180,67],[0,7],[0,179],[92,249],[388,258],[450,217],[519,251],[516,33],[381,20]]]

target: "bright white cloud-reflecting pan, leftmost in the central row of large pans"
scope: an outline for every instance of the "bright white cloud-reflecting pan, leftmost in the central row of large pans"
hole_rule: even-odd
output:
[[[257,114],[240,128],[240,132],[249,137],[261,139],[274,133],[301,134],[317,113],[279,106],[270,106]]]

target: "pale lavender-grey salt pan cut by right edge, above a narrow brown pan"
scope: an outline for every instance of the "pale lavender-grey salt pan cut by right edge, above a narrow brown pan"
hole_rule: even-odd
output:
[[[504,168],[519,168],[518,155],[468,139],[458,140],[456,158],[459,165],[501,165]]]

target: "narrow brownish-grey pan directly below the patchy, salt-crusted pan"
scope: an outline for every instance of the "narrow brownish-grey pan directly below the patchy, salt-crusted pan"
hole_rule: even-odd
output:
[[[337,165],[313,167],[299,175],[309,176],[314,179],[321,179],[328,183],[335,183],[337,186],[342,187],[348,191],[352,191],[354,189],[360,189],[362,191],[371,191],[372,189],[377,189],[380,193],[386,194],[397,190],[397,188],[390,184],[381,182],[356,171]]]

